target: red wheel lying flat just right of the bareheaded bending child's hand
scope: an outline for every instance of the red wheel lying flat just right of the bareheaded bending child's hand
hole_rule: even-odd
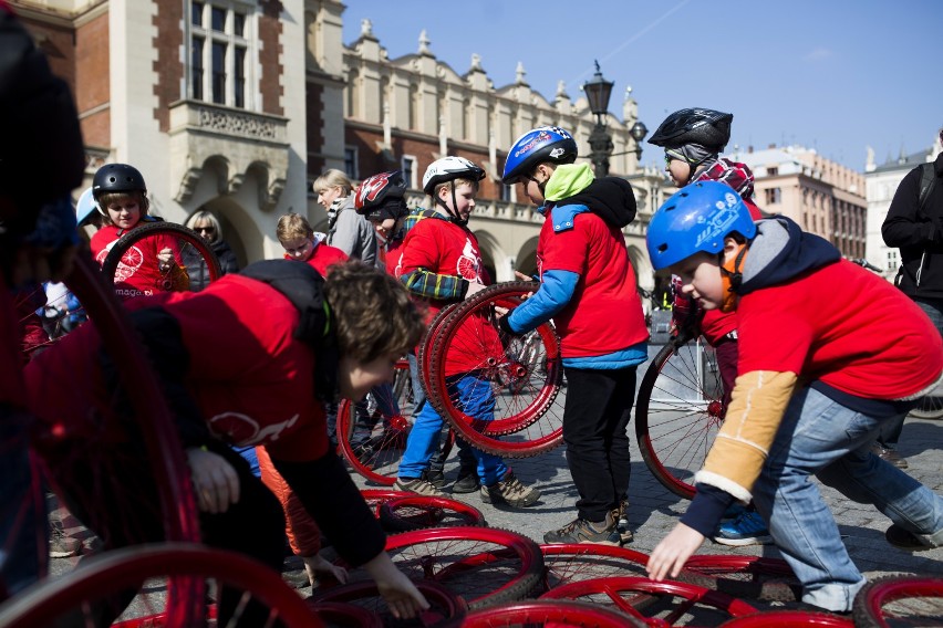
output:
[[[386,552],[413,580],[434,580],[469,609],[526,597],[540,583],[543,556],[530,538],[497,527],[432,527],[393,534]]]

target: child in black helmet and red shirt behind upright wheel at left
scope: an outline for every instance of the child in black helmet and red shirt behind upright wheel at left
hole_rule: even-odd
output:
[[[147,186],[134,166],[105,164],[99,168],[92,181],[92,196],[103,226],[92,236],[91,249],[101,264],[122,236],[153,219],[147,213],[151,207]],[[174,292],[189,286],[179,248],[169,237],[142,239],[122,258],[115,272],[115,291],[125,299],[160,292],[167,284]]]

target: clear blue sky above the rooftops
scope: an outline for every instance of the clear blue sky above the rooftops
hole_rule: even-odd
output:
[[[866,146],[882,164],[929,148],[943,126],[943,2],[939,0],[348,0],[344,43],[363,18],[396,59],[431,50],[459,74],[473,53],[496,87],[515,81],[572,100],[598,59],[628,85],[653,132],[688,106],[734,113],[734,145],[800,144],[857,170]],[[643,161],[661,158],[645,145]],[[505,147],[506,148],[506,147]]]

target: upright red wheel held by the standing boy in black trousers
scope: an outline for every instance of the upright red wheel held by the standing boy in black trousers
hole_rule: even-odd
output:
[[[563,441],[563,407],[558,399],[562,364],[553,325],[537,327],[541,358],[531,364],[529,353],[522,353],[528,345],[497,324],[498,312],[514,310],[536,287],[530,282],[509,282],[475,294],[445,321],[432,347],[429,402],[458,436],[497,456],[537,456]],[[487,418],[466,415],[453,397],[453,377],[446,370],[455,359],[477,365],[469,375],[487,387],[480,395],[495,401]]]

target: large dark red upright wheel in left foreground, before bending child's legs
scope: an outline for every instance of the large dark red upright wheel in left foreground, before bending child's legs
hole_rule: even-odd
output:
[[[137,536],[138,531],[134,522],[143,516],[159,522],[163,531],[162,540],[198,542],[200,538],[198,511],[190,485],[189,467],[164,400],[163,389],[146,358],[146,350],[141,344],[127,312],[112,286],[105,282],[87,251],[76,257],[65,284],[89,314],[89,321],[83,326],[93,325],[94,327],[90,332],[83,332],[75,341],[96,347],[94,350],[104,350],[114,363],[117,376],[123,384],[121,388],[134,390],[134,395],[124,397],[124,402],[129,405],[132,416],[135,418],[129,422],[141,432],[142,452],[146,458],[143,464],[148,469],[147,474],[153,481],[151,488],[156,493],[153,502],[147,500],[147,510],[125,516],[126,509],[115,507],[116,504],[123,503],[122,500],[115,498],[121,495],[139,498],[141,495],[136,494],[136,485],[127,483],[127,478],[120,475],[101,460],[95,460],[94,464],[91,463],[95,448],[100,444],[106,450],[106,456],[115,451],[114,444],[110,442],[113,435],[108,427],[108,421],[115,414],[114,406],[108,406],[107,402],[102,405],[97,409],[101,420],[94,425],[91,421],[83,423],[80,430],[85,431],[82,433],[70,432],[70,427],[59,422],[59,416],[40,419],[49,414],[45,411],[48,399],[68,404],[70,398],[69,387],[63,387],[61,379],[56,376],[46,375],[49,373],[46,365],[59,365],[63,360],[63,356],[55,353],[56,347],[52,347],[49,355],[38,356],[25,367],[27,376],[37,387],[33,394],[33,404],[37,405],[31,407],[31,412],[37,417],[32,433],[33,450],[46,467],[50,483],[60,495],[68,494],[72,499],[81,500],[77,504],[81,506],[80,510],[92,515],[87,519],[82,517],[82,523],[99,534],[103,528],[120,530],[120,534],[129,543],[153,541],[149,536]],[[71,334],[63,337],[62,342],[73,342]],[[87,368],[83,357],[73,357],[74,360],[82,363],[76,368]],[[77,394],[83,393],[77,391]],[[120,395],[120,393],[116,394]],[[115,400],[112,399],[111,402]],[[91,432],[87,431],[89,426],[92,426]],[[74,446],[76,441],[81,441],[81,447]],[[96,469],[96,474],[93,475],[96,484],[82,482],[75,477],[76,462],[80,468]],[[139,459],[136,462],[142,464]],[[137,501],[141,500],[137,499]],[[99,517],[103,519],[96,521]],[[43,540],[45,538],[44,533],[38,533],[42,534]],[[187,582],[174,582],[173,595],[178,608],[193,610],[201,597],[201,592],[193,588]]]

